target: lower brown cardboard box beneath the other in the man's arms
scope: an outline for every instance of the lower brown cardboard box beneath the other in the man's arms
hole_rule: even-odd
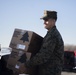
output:
[[[25,62],[30,60],[32,56],[33,55],[30,52],[13,49],[11,55],[9,56],[7,67],[13,70],[14,75],[19,75],[19,74],[34,75],[36,67],[28,69],[25,66]]]

